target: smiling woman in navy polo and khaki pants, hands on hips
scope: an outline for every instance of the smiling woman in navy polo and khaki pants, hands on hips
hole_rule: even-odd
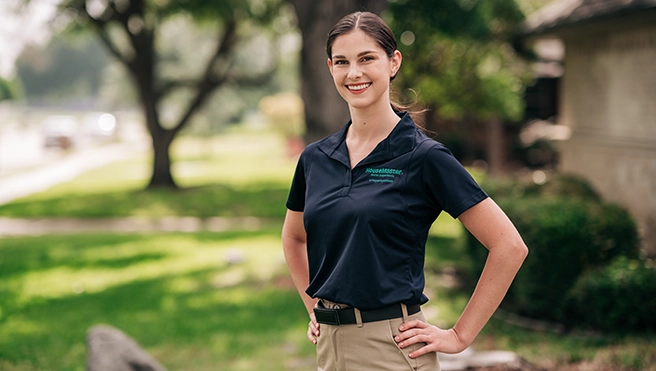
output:
[[[436,353],[472,343],[528,250],[451,153],[391,102],[402,56],[378,16],[342,18],[326,51],[351,120],[303,151],[282,231],[319,370],[439,370]],[[425,243],[442,210],[489,250],[451,329],[429,325],[420,309]]]

